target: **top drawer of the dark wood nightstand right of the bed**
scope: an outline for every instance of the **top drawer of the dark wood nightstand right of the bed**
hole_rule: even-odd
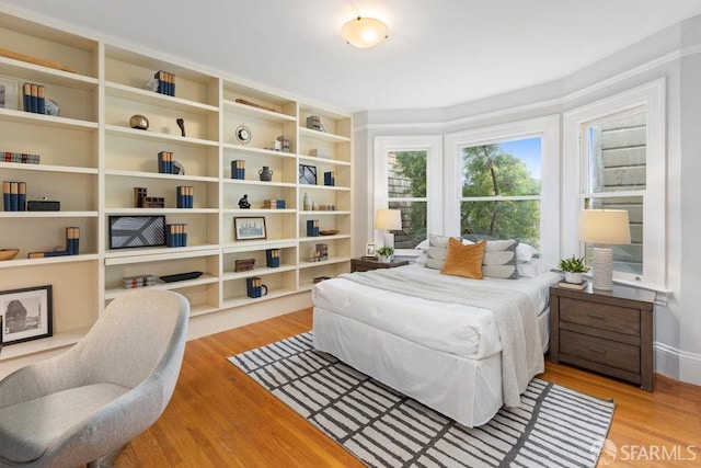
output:
[[[560,298],[560,320],[640,336],[640,310]]]

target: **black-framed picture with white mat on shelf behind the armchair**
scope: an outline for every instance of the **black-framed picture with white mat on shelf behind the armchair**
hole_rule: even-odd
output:
[[[0,343],[10,345],[51,336],[53,307],[50,285],[0,292]]]

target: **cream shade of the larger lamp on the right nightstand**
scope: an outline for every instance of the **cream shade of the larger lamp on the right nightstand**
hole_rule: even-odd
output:
[[[579,240],[609,246],[631,243],[628,212],[624,209],[581,210]]]

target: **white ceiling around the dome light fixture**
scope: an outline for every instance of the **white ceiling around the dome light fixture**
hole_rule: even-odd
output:
[[[108,42],[346,111],[445,107],[567,76],[680,20],[699,0],[0,0]],[[372,49],[340,36],[375,15]]]

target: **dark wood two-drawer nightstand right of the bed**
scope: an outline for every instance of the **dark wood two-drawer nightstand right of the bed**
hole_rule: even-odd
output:
[[[655,293],[550,287],[550,361],[573,364],[653,391]]]

